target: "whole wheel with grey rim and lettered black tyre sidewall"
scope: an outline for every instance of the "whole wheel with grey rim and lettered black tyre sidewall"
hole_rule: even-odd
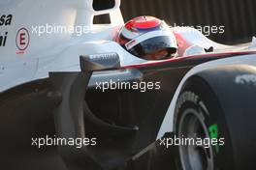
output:
[[[235,169],[225,114],[204,80],[194,77],[186,83],[175,120],[179,169]]]

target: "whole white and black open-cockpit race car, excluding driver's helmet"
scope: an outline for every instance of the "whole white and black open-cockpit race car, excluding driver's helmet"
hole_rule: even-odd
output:
[[[119,6],[0,1],[1,169],[253,169],[255,39],[176,28],[178,56],[148,61],[113,41]]]

